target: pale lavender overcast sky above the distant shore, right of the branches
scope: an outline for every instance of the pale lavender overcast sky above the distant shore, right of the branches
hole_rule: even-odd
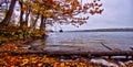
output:
[[[62,30],[133,27],[133,0],[101,0],[101,2],[104,8],[101,15],[91,16],[88,23],[80,27],[61,25]]]

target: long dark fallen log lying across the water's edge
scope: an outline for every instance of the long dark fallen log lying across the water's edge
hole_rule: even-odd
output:
[[[0,53],[11,53],[17,55],[24,54],[48,54],[48,55],[91,55],[91,56],[133,56],[133,51],[119,51],[119,52],[49,52],[49,51],[24,51],[24,52],[14,52],[14,51],[0,51]]]

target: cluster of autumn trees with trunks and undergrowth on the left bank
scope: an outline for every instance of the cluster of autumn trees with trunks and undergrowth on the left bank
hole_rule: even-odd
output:
[[[13,25],[14,22],[8,19],[11,18],[8,14],[12,13],[17,1],[20,4],[20,21]],[[7,41],[7,38],[31,38],[33,36],[45,35],[47,25],[54,25],[55,23],[79,26],[86,23],[86,20],[91,15],[103,12],[100,0],[90,0],[90,2],[82,1],[83,0],[11,0],[10,9],[0,23],[0,43],[4,42],[3,40]]]

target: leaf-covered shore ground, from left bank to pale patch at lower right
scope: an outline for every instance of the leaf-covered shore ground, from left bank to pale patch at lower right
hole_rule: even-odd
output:
[[[13,54],[13,52],[23,53],[28,51],[20,48],[19,45],[13,42],[0,45],[0,67],[133,67],[133,60],[89,59],[82,56],[64,59],[44,54]]]

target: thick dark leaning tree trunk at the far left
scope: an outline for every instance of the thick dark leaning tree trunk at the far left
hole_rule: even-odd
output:
[[[6,24],[6,25],[9,24],[9,22],[10,22],[10,20],[11,20],[11,15],[12,15],[12,13],[13,13],[13,9],[14,9],[16,1],[17,1],[17,0],[11,0],[11,4],[10,4],[10,8],[9,8],[7,14],[6,14],[6,18],[4,18],[3,21],[1,22],[2,24]]]

